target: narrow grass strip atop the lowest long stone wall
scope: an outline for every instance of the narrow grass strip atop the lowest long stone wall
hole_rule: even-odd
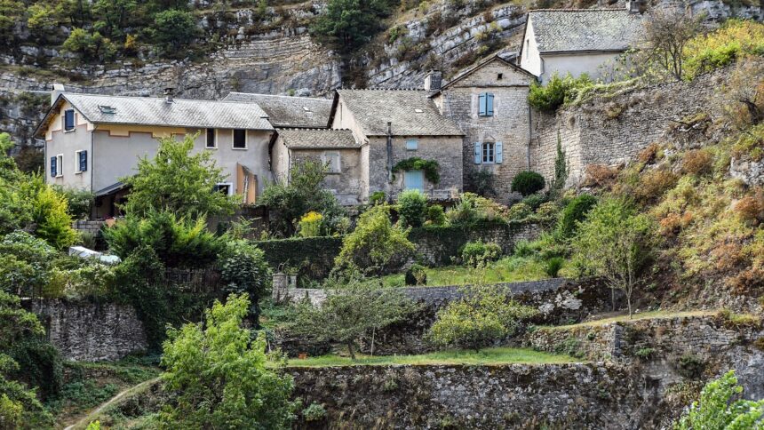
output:
[[[581,362],[569,355],[547,354],[531,349],[519,348],[485,348],[480,352],[458,350],[442,351],[420,355],[386,355],[374,356],[358,355],[356,360],[338,355],[322,355],[320,357],[308,357],[305,359],[290,359],[292,367],[329,367],[329,366],[370,366],[386,364],[559,364],[565,362]]]

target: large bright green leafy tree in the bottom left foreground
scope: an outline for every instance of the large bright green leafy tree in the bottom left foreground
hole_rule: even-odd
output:
[[[266,340],[242,326],[246,294],[215,301],[204,323],[168,330],[162,375],[175,402],[160,422],[169,428],[290,428],[292,378],[266,366]]]

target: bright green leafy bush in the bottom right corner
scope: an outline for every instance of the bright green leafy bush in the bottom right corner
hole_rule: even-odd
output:
[[[675,430],[760,430],[764,429],[764,399],[754,402],[740,398],[735,370],[714,379],[703,388],[700,400],[674,423]]]

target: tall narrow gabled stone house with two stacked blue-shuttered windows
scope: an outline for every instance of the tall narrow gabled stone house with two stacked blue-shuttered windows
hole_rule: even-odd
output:
[[[514,175],[530,165],[530,84],[536,76],[499,56],[478,63],[447,84],[430,72],[426,89],[442,115],[465,133],[462,147],[463,181],[474,189],[472,173],[490,171],[500,200],[511,193]]]

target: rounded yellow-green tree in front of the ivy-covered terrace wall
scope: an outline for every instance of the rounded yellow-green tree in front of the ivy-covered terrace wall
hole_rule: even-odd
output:
[[[335,264],[338,270],[360,269],[370,274],[400,267],[415,249],[409,231],[393,225],[389,204],[377,204],[361,214],[353,233],[342,240]]]

